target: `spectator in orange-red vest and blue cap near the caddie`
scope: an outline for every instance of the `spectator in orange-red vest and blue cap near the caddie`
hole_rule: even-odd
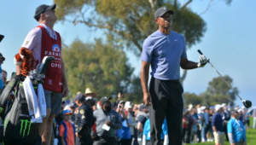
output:
[[[68,109],[63,110],[63,120],[59,126],[59,145],[75,145],[75,127],[70,122],[72,112]]]

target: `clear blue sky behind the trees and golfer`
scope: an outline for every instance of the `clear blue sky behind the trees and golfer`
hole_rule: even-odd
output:
[[[183,0],[181,0],[183,1]],[[188,1],[188,0],[187,0]],[[33,19],[35,9],[40,4],[52,4],[52,0],[0,0],[0,34],[5,38],[0,44],[0,52],[7,58],[3,69],[10,74],[15,72],[13,63],[14,55],[20,49],[26,34],[38,22]],[[207,8],[208,0],[194,0],[189,5],[195,13],[201,14]],[[256,77],[255,77],[255,0],[233,0],[230,6],[222,0],[212,0],[212,5],[202,18],[207,22],[207,32],[200,44],[194,45],[187,51],[190,61],[198,60],[197,49],[210,58],[213,66],[225,75],[233,78],[233,86],[238,87],[240,96],[256,102]],[[175,20],[173,20],[175,23]],[[73,26],[70,23],[57,23],[55,31],[61,33],[65,44],[80,39],[84,42],[93,42],[94,38],[101,38],[102,32],[93,31],[82,24]],[[135,74],[139,74],[140,58],[127,52],[129,62],[135,67]],[[183,83],[185,91],[200,94],[207,89],[208,82],[218,74],[207,65],[204,68],[189,70]],[[141,96],[143,97],[143,96]],[[236,104],[241,102],[236,99]]]

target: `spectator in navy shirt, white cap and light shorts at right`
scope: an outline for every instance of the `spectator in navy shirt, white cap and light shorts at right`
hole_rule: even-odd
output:
[[[215,106],[216,113],[212,117],[212,130],[215,140],[215,145],[224,145],[224,120],[223,107],[219,104]]]

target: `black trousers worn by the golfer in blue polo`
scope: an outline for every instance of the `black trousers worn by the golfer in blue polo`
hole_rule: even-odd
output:
[[[166,117],[169,145],[182,145],[183,87],[178,81],[151,78],[149,93],[150,138],[160,145],[162,124]]]

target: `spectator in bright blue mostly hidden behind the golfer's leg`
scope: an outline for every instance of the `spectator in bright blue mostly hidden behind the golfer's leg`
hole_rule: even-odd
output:
[[[162,125],[162,132],[160,134],[160,145],[168,145],[169,144],[169,137],[168,137],[168,128],[166,124],[166,119],[164,119]],[[144,129],[143,129],[143,145],[151,145],[150,142],[150,119],[147,119]]]

